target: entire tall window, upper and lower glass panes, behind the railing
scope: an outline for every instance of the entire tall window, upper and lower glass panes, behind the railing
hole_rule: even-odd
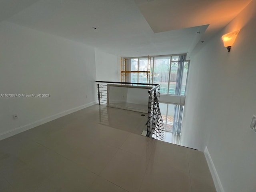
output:
[[[186,82],[189,69],[189,61],[186,60],[186,54],[152,56],[148,57],[126,58],[128,68],[131,72],[128,81],[146,83],[149,78],[150,83],[160,84],[160,93],[168,96],[170,102],[161,103],[160,111],[165,124],[165,130],[175,135],[180,135],[182,112],[184,104],[171,102],[174,96],[185,96]],[[150,74],[140,71],[146,71],[150,63]]]

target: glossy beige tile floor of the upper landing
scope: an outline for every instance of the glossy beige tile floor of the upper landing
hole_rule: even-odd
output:
[[[202,152],[140,136],[145,123],[94,105],[1,140],[0,191],[216,191]]]

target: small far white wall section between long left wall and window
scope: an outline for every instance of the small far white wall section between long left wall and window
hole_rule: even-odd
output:
[[[95,48],[96,77],[98,81],[118,81],[120,57]]]

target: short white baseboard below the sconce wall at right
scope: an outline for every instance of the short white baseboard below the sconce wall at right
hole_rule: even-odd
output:
[[[216,191],[217,192],[224,192],[223,186],[222,186],[222,184],[220,182],[220,178],[218,176],[218,172],[217,172],[217,170],[216,170],[216,168],[213,164],[213,161],[212,161],[212,158],[210,156],[210,153],[208,151],[207,146],[205,146],[205,148],[204,148],[204,155],[206,157],[207,164],[210,168],[210,172],[212,174],[212,179],[213,179]]]

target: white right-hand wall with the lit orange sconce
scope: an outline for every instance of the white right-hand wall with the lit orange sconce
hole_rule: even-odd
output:
[[[225,192],[256,191],[256,1],[192,54],[182,145],[207,146]],[[228,53],[221,36],[240,29]]]

